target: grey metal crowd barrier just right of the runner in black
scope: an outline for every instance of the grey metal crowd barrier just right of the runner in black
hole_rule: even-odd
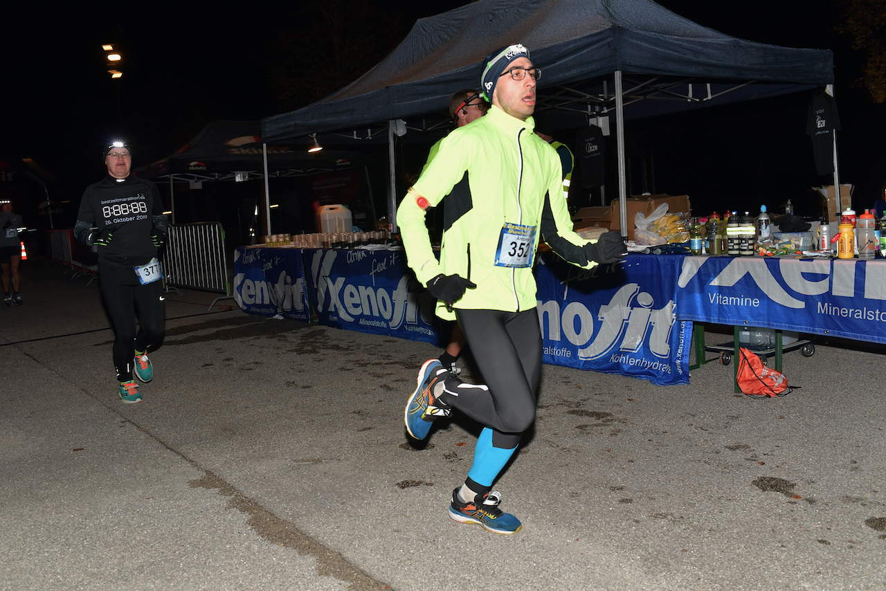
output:
[[[220,292],[230,299],[230,273],[221,223],[183,223],[169,226],[166,247],[160,255],[167,292],[170,286]]]

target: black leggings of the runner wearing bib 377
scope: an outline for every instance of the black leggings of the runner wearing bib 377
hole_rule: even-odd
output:
[[[105,307],[116,333],[113,365],[117,379],[132,379],[132,363],[137,351],[147,351],[163,338],[166,307],[161,281],[143,285],[131,267],[99,264],[98,281],[102,286]],[[136,331],[136,314],[139,328]]]

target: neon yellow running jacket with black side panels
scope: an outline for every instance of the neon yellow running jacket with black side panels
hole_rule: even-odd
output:
[[[400,203],[397,224],[418,280],[427,284],[441,273],[457,274],[478,285],[467,290],[455,307],[510,312],[535,307],[532,259],[542,237],[564,260],[582,268],[596,264],[588,261],[582,246],[589,241],[572,230],[561,198],[560,158],[532,133],[533,126],[532,117],[521,121],[493,106],[486,117],[455,129],[440,142],[437,156]],[[453,195],[445,204],[438,262],[424,226],[424,210],[437,206],[449,193]],[[424,208],[418,203],[423,197]],[[524,266],[495,265],[496,253],[520,247],[500,247],[506,223],[535,230],[525,243],[528,258],[517,262]],[[439,303],[438,315],[455,319],[444,302]]]

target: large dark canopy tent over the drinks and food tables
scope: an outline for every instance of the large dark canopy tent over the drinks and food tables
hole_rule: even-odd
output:
[[[544,71],[540,108],[588,118],[615,111],[623,200],[626,94],[642,116],[650,113],[644,105],[654,112],[665,101],[665,110],[713,104],[729,89],[740,89],[736,97],[750,98],[833,82],[830,51],[724,35],[652,0],[479,0],[419,19],[367,74],[313,105],[261,120],[262,135],[280,141],[354,129],[356,136],[358,128],[388,121],[392,137],[395,121],[446,111],[455,89],[478,87],[486,55],[517,42],[530,49],[533,63]],[[623,89],[626,73],[633,83],[629,93]],[[612,89],[605,83],[610,75]],[[664,101],[650,100],[655,98]],[[389,207],[394,203],[392,194]],[[626,221],[621,222],[625,228]]]

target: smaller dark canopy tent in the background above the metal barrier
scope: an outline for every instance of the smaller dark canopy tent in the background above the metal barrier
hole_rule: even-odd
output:
[[[175,219],[173,183],[198,185],[204,181],[264,179],[268,195],[269,177],[303,176],[342,168],[361,167],[363,157],[355,152],[307,153],[306,146],[268,145],[262,142],[260,121],[210,121],[194,139],[165,159],[136,169],[149,180],[167,180]],[[270,214],[265,205],[268,228]]]

